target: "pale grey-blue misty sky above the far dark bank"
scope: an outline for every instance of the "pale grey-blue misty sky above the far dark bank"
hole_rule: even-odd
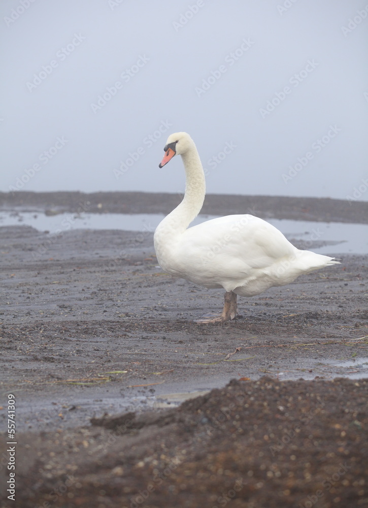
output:
[[[2,0],[0,13],[1,190],[180,192],[179,157],[158,164],[187,131],[209,193],[368,199],[368,4]]]

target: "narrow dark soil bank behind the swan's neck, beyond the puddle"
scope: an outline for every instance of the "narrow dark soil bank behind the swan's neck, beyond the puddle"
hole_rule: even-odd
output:
[[[26,192],[0,193],[0,209],[45,210],[48,213],[169,213],[182,194],[143,192]],[[209,194],[203,214],[251,213],[261,218],[368,224],[368,202],[287,196]]]

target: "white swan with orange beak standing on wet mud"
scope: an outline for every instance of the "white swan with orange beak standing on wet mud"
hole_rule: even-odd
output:
[[[154,234],[158,263],[168,273],[205,288],[223,288],[222,314],[205,322],[233,319],[237,295],[254,296],[298,275],[339,263],[294,247],[271,224],[254,215],[227,215],[188,228],[202,208],[205,174],[195,144],[185,132],[169,136],[159,167],[181,155],[186,172],[183,201]]]

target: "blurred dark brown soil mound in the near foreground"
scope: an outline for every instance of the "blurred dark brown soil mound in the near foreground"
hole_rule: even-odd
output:
[[[366,506],[367,387],[232,380],[158,414],[22,434],[17,506]]]

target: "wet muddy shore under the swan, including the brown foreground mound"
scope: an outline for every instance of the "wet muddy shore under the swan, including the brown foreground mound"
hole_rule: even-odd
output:
[[[4,506],[368,504],[365,257],[199,325],[222,292],[162,273],[150,233],[3,227],[0,251],[2,492],[9,393],[17,439]]]

